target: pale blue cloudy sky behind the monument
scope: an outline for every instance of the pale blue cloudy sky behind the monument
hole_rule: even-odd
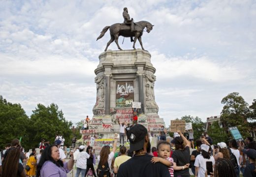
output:
[[[91,118],[94,70],[109,32],[96,38],[123,22],[124,7],[155,25],[142,41],[157,69],[166,125],[219,116],[222,98],[234,91],[250,105],[256,99],[255,0],[0,0],[0,95],[28,116],[38,103],[56,103],[74,123]],[[132,44],[126,38],[121,47]]]

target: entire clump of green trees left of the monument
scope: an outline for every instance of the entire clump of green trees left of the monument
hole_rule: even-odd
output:
[[[0,148],[20,137],[26,150],[37,148],[42,138],[54,143],[56,134],[65,138],[66,146],[71,144],[72,122],[54,103],[47,107],[38,104],[29,118],[20,104],[9,103],[0,95],[0,125]]]

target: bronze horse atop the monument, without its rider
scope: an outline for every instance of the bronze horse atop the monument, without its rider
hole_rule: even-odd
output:
[[[147,21],[140,21],[140,22],[136,22],[136,25],[134,25],[134,30],[131,31],[129,25],[116,23],[116,24],[113,24],[111,26],[106,26],[105,28],[103,28],[102,31],[100,32],[100,35],[97,37],[97,40],[100,39],[101,37],[103,37],[104,34],[106,33],[106,31],[109,29],[111,39],[108,41],[107,46],[105,48],[105,51],[107,50],[108,46],[113,41],[116,42],[118,49],[122,50],[121,47],[118,44],[118,37],[119,36],[134,37],[133,46],[132,46],[133,49],[136,49],[135,48],[135,43],[136,43],[136,40],[138,39],[142,50],[144,50],[143,45],[142,45],[142,41],[141,41],[141,36],[143,34],[143,29],[147,28],[147,32],[150,32],[153,29],[153,26],[154,25],[152,25],[151,23],[149,23]]]

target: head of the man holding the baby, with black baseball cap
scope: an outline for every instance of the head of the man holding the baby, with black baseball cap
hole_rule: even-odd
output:
[[[141,124],[136,124],[128,131],[128,139],[130,142],[130,150],[140,150],[144,146],[145,136],[148,134],[148,130]]]

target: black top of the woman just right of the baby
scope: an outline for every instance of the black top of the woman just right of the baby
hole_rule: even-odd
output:
[[[174,150],[171,157],[173,158],[173,161],[176,162],[177,166],[184,166],[187,163],[190,163],[190,147],[186,147],[185,150]],[[190,177],[189,168],[184,170],[174,170],[174,177],[179,175],[182,177]]]

